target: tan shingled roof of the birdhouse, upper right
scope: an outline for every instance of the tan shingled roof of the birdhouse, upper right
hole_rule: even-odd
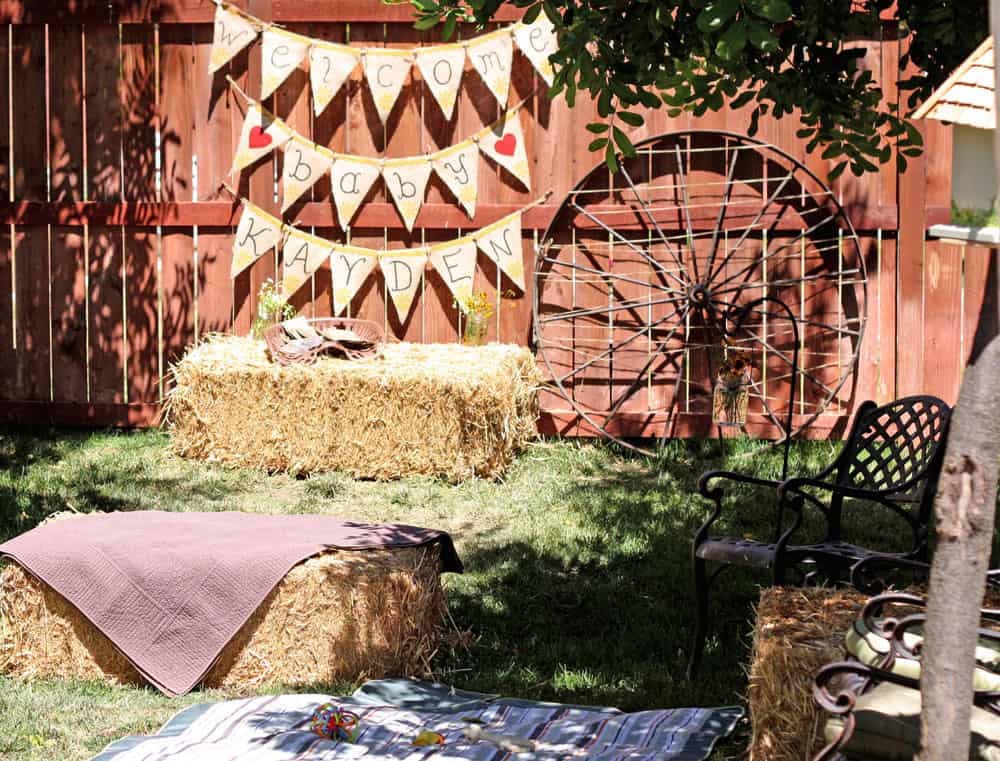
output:
[[[937,119],[980,129],[996,129],[993,38],[987,38],[914,112],[914,119]]]

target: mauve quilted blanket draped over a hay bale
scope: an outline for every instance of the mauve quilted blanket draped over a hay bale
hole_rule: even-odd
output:
[[[153,685],[183,695],[296,564],[330,549],[438,543],[451,537],[322,515],[99,513],[46,523],[0,544],[69,600]]]

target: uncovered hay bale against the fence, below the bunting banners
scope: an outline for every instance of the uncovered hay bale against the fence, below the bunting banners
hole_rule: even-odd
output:
[[[358,478],[496,478],[535,435],[531,352],[388,344],[379,359],[272,363],[262,341],[214,336],[173,369],[173,451],[231,466]]]

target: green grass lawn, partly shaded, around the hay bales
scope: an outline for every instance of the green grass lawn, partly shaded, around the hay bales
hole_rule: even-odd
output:
[[[814,472],[835,452],[830,443],[796,444],[793,471]],[[442,649],[441,680],[625,710],[729,705],[746,686],[759,579],[737,572],[717,585],[702,674],[684,678],[691,537],[706,514],[695,484],[720,466],[776,477],[780,453],[745,440],[730,442],[727,457],[717,441],[671,441],[656,458],[599,443],[539,442],[501,482],[373,483],[188,462],[173,457],[157,431],[7,430],[0,431],[0,541],[60,510],[328,513],[442,528],[467,568],[445,577],[452,616],[467,635]],[[738,496],[745,509],[720,528],[766,532],[770,505]],[[878,536],[885,526],[866,531]],[[196,691],[168,699],[150,689],[0,676],[0,758],[86,759],[121,735],[155,730],[185,705],[224,697]],[[745,737],[716,758],[736,757],[742,747]]]

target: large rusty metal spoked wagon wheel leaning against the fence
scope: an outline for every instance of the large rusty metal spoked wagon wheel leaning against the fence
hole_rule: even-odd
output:
[[[843,412],[865,325],[857,235],[833,192],[774,146],[686,131],[640,143],[611,173],[593,169],[563,201],[539,245],[534,344],[575,412],[627,441],[683,430],[711,412],[712,369],[725,352],[754,364],[748,423],[792,434]],[[720,324],[762,296],[767,306],[722,348]],[[730,322],[730,327],[732,323]],[[849,382],[850,381],[850,382]],[[639,451],[643,451],[639,449]]]

